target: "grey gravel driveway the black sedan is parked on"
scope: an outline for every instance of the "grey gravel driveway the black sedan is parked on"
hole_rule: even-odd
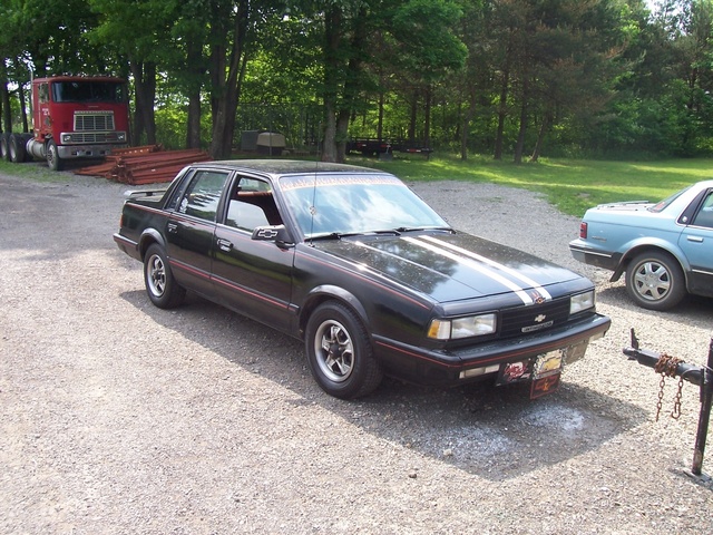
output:
[[[578,221],[543,197],[413,185],[455,226],[597,283],[613,328],[560,390],[385,380],[348,402],[297,341],[197,298],[154,308],[111,240],[127,187],[59,176],[0,173],[0,533],[713,532],[713,486],[685,474],[697,387],[674,420],[670,379],[656,422],[660,378],[622,354],[635,327],[643,347],[705,362],[713,301],[634,308],[572,260]]]

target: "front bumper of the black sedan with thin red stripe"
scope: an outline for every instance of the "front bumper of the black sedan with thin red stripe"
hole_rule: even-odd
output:
[[[524,362],[563,350],[565,364],[584,357],[590,341],[608,331],[612,320],[593,314],[538,334],[494,340],[452,351],[430,351],[394,340],[377,338],[378,352],[387,373],[429,386],[456,386],[496,373],[501,364]],[[484,369],[480,376],[470,373]]]

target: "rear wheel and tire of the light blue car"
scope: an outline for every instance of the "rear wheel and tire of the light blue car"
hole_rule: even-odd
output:
[[[670,310],[686,296],[686,282],[678,262],[667,253],[646,251],[626,269],[626,291],[648,310]]]

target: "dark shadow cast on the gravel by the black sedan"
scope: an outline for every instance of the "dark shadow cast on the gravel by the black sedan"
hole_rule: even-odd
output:
[[[342,401],[312,380],[297,340],[191,294],[173,311],[154,308],[143,291],[121,298],[157,324],[233,362],[236,372],[258,374],[296,396],[276,395],[276,403],[321,407],[382,440],[494,481],[616,442],[646,419],[631,403],[568,382],[567,373],[558,392],[538,400],[518,387],[443,390],[387,378],[370,397]]]

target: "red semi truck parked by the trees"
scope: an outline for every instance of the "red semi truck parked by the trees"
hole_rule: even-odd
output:
[[[100,158],[128,146],[129,108],[125,80],[55,76],[32,80],[32,134],[4,134],[2,156],[11,162],[47,159],[52,171],[65,160]]]

